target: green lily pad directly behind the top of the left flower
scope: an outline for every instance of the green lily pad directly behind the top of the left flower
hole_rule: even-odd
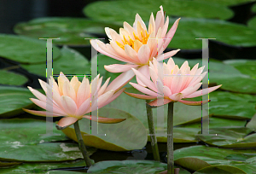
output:
[[[45,62],[37,65],[21,65],[30,73],[45,77]],[[61,56],[53,61],[53,74],[60,72],[72,75],[90,74],[90,62],[78,51],[64,46],[61,49]],[[83,79],[83,78],[82,78]]]

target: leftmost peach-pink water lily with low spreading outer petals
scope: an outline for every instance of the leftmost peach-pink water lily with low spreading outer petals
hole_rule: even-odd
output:
[[[39,83],[45,93],[47,93],[48,88],[52,90],[52,100],[44,96],[38,90],[28,87],[32,94],[38,98],[31,98],[30,100],[38,105],[38,107],[42,107],[45,110],[47,110],[46,103],[49,102],[49,104],[53,106],[53,112],[48,115],[46,111],[34,111],[25,108],[23,110],[27,113],[39,116],[64,116],[57,124],[57,128],[59,129],[65,129],[67,126],[73,125],[77,120],[83,118],[98,121],[99,123],[121,122],[125,119],[109,119],[85,115],[85,113],[90,113],[112,102],[125,90],[120,90],[120,88],[131,80],[131,78],[124,79],[124,77],[120,77],[116,78],[108,85],[109,79],[110,78],[108,78],[103,85],[100,75],[97,75],[91,83],[85,76],[82,82],[80,82],[79,78],[76,76],[69,81],[63,73],[60,73],[58,84],[55,82],[55,79],[51,77],[53,88],[50,88],[49,84],[39,79]]]

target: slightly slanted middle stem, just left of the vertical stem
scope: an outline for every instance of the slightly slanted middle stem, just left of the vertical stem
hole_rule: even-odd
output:
[[[146,100],[146,102],[150,102],[150,101]],[[154,160],[160,161],[160,154],[159,154],[159,149],[158,149],[157,140],[156,140],[155,131],[154,131],[154,120],[153,120],[152,108],[148,107],[147,104],[146,104],[146,108],[147,108],[147,116],[148,116],[148,130],[149,130],[149,135],[151,139],[151,147],[153,151]]]

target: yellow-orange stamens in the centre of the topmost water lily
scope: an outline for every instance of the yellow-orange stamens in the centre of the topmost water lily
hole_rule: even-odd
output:
[[[138,49],[140,49],[143,44],[147,44],[149,34],[148,34],[147,30],[145,30],[145,31],[141,30],[141,32],[138,35],[136,35],[133,32],[133,37],[134,37],[134,39],[132,39],[130,36],[128,36],[129,39],[126,39],[124,36],[124,39],[122,39],[123,43],[119,43],[117,41],[115,41],[115,42],[116,42],[116,44],[119,45],[119,47],[121,49],[125,50],[125,44],[128,44],[131,46],[132,49],[136,50],[136,52],[137,52]]]

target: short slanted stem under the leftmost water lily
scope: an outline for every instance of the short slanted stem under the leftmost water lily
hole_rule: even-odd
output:
[[[86,150],[85,145],[84,145],[83,137],[81,135],[81,131],[80,131],[80,128],[79,128],[79,120],[77,122],[75,122],[73,124],[73,126],[74,126],[74,129],[75,129],[75,132],[76,132],[76,136],[78,138],[79,149],[80,149],[81,153],[84,156],[85,164],[86,164],[86,166],[90,167],[91,166],[91,162],[90,162],[89,155],[88,155],[87,150]]]

